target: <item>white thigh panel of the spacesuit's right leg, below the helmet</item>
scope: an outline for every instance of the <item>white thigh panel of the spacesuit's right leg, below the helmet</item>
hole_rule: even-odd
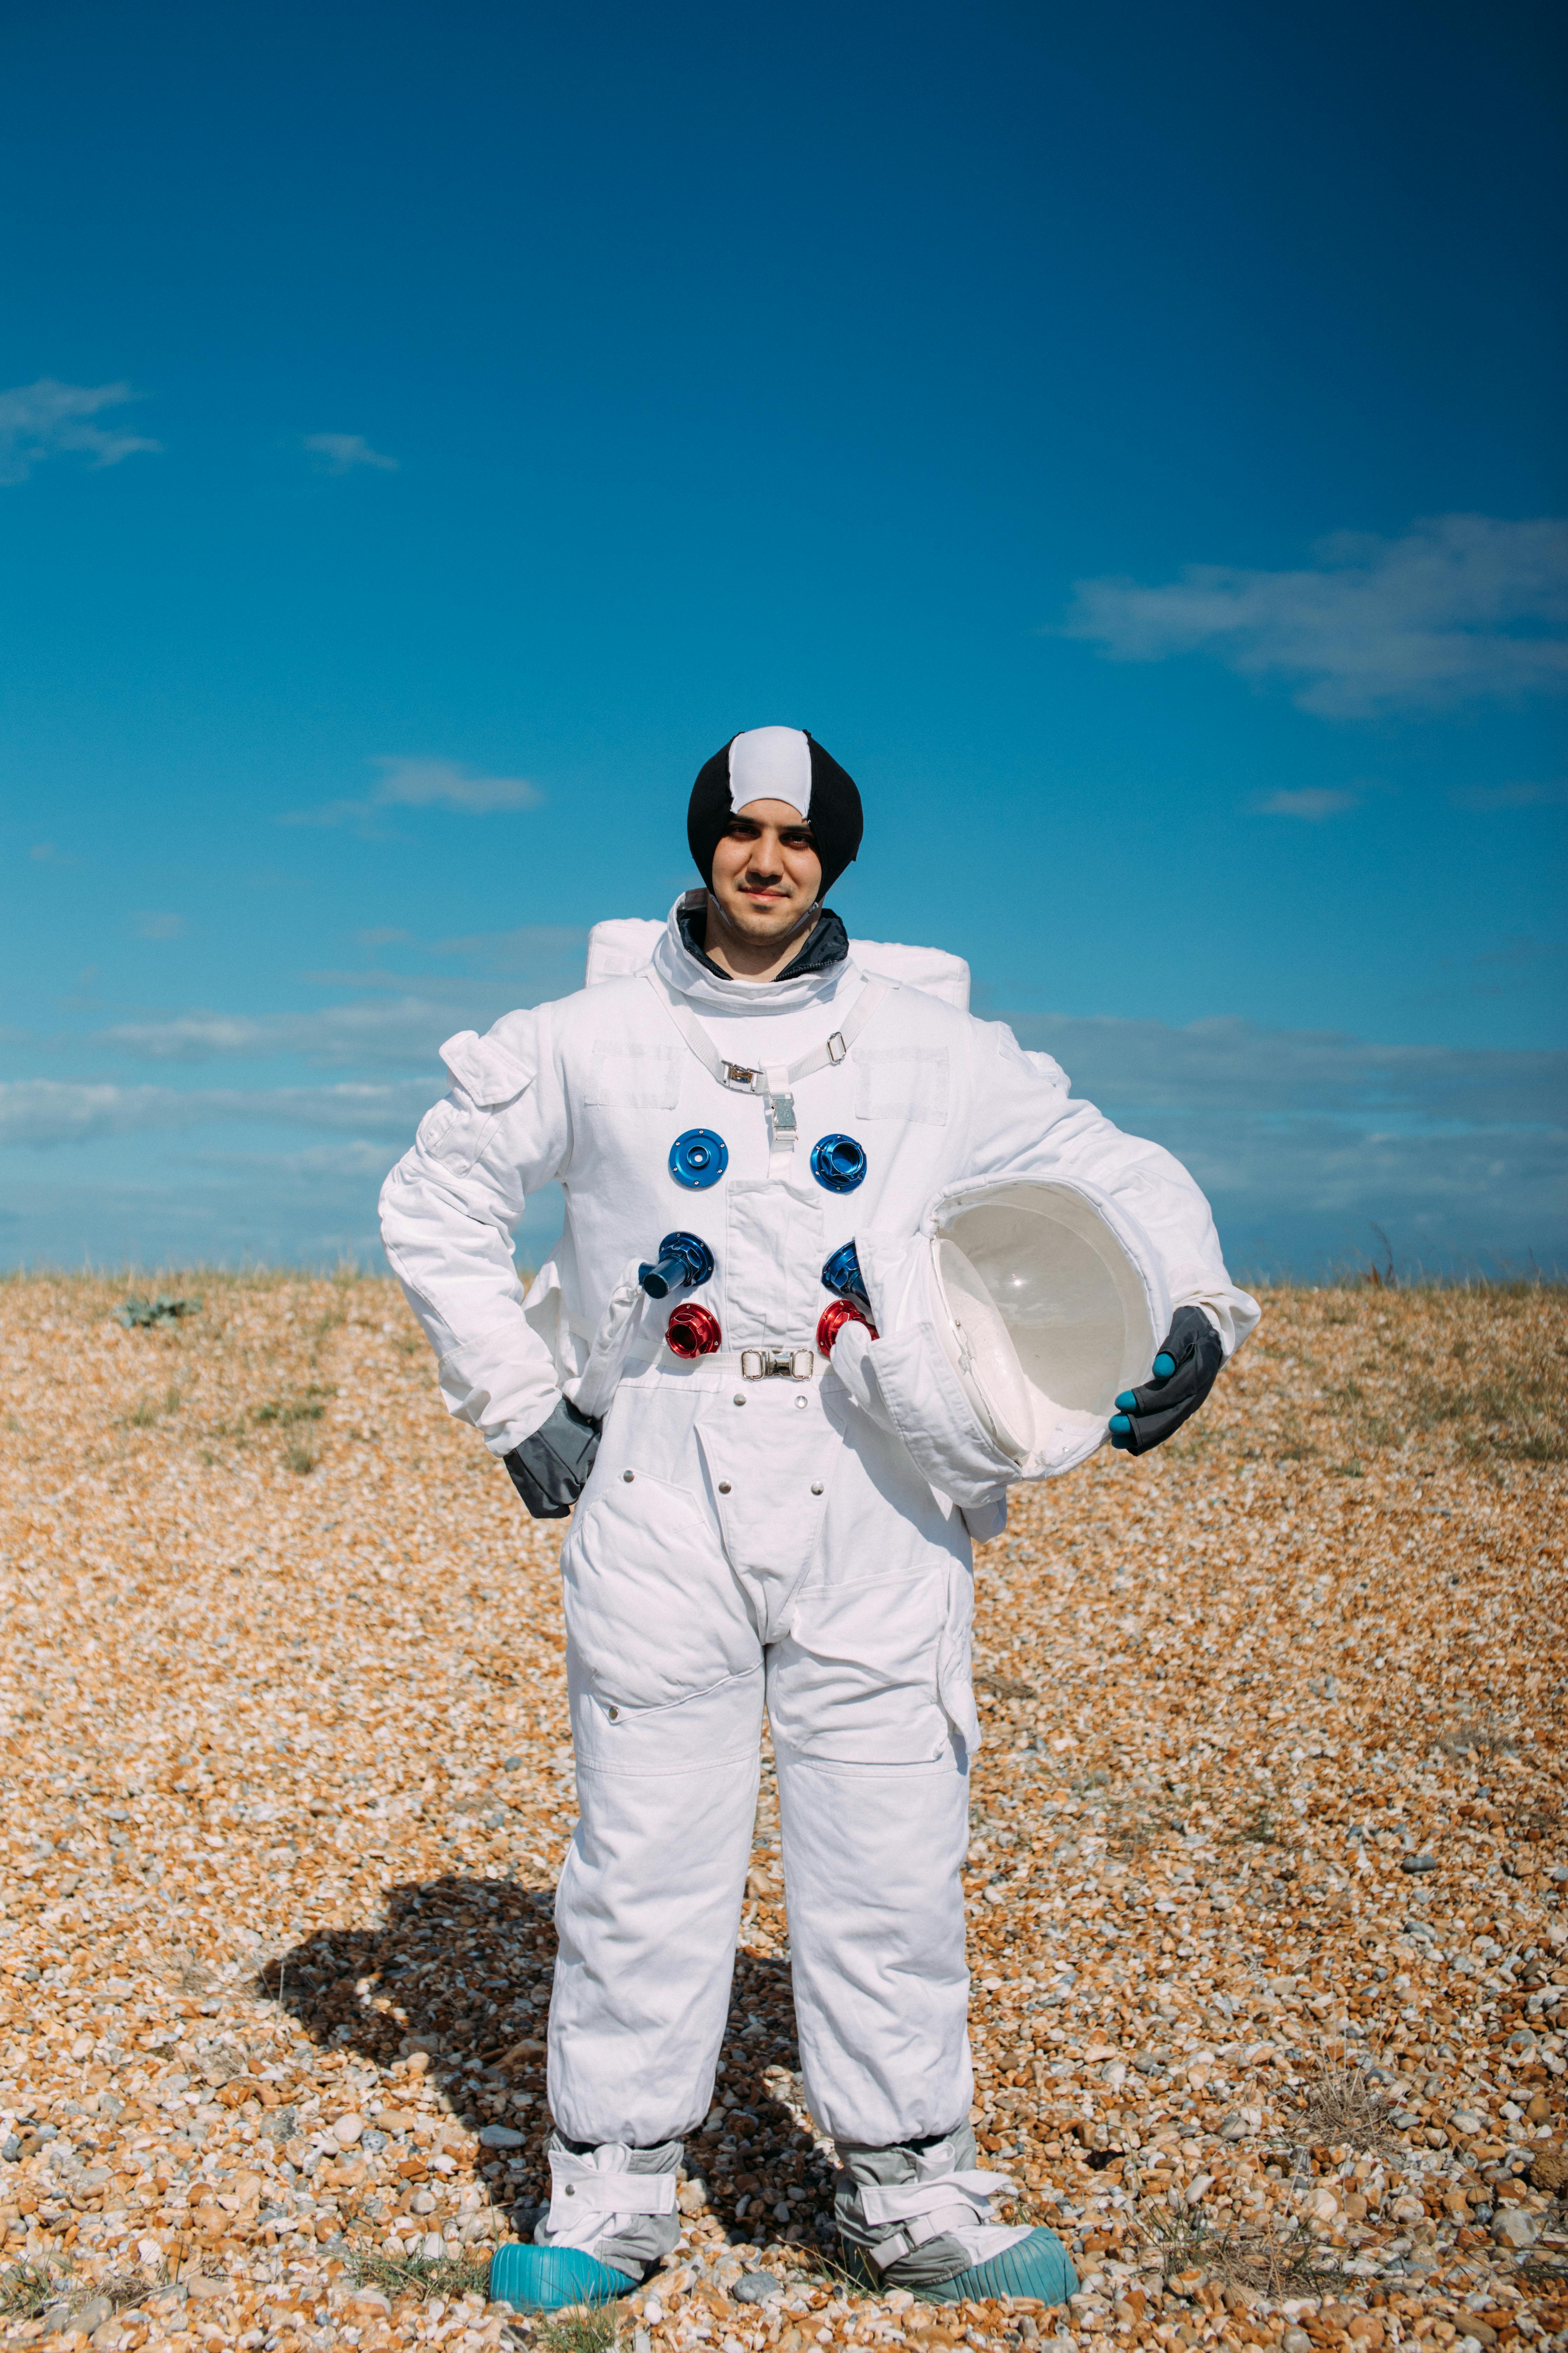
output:
[[[769,1659],[773,1732],[839,1765],[929,1765],[947,1748],[938,1574],[806,1586]]]

